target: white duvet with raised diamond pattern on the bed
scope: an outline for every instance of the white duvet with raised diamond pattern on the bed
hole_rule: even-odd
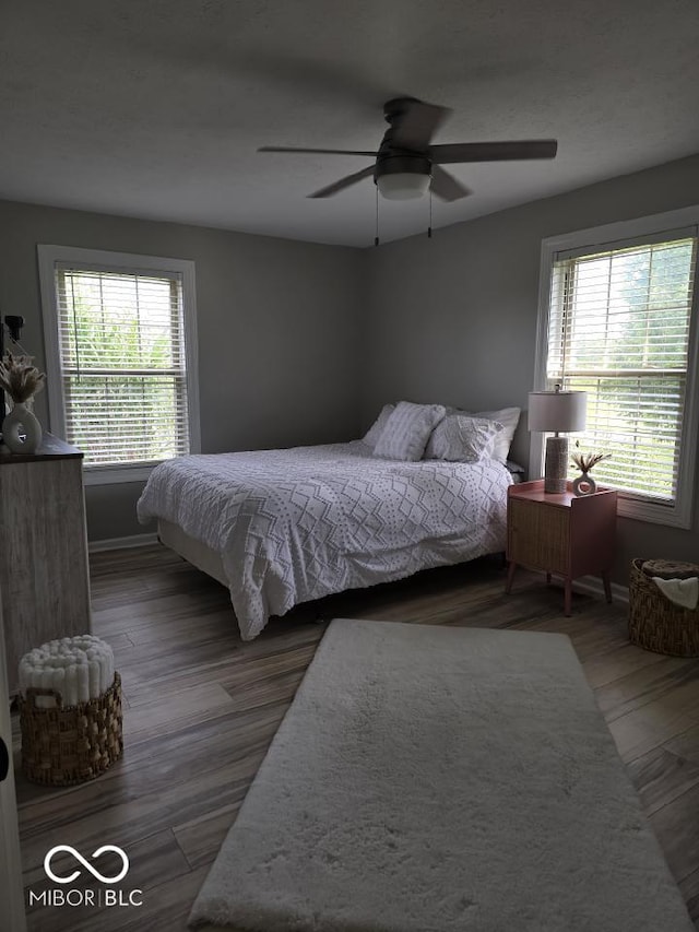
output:
[[[370,452],[355,440],[167,460],[139,520],[221,554],[245,640],[299,602],[505,550],[503,465]]]

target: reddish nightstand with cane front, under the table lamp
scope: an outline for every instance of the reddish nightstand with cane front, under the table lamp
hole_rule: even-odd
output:
[[[570,615],[572,580],[601,576],[607,602],[612,601],[609,570],[614,563],[616,492],[597,489],[576,496],[568,483],[561,493],[544,492],[544,481],[510,485],[507,502],[506,592],[512,588],[518,566],[543,569],[564,577],[566,615]]]

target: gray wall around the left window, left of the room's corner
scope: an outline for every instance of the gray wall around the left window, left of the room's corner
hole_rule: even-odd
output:
[[[356,249],[0,202],[0,311],[26,318],[23,345],[45,368],[36,245],[192,259],[197,271],[204,452],[357,436]],[[48,424],[46,400],[36,412]],[[88,486],[91,540],[143,533],[142,483]]]

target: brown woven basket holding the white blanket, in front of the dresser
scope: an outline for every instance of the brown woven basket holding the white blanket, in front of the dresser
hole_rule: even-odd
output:
[[[52,696],[56,707],[37,708],[38,696]],[[55,689],[26,691],[20,696],[22,770],[27,780],[71,787],[94,780],[123,752],[121,677],[88,703],[62,707]]]

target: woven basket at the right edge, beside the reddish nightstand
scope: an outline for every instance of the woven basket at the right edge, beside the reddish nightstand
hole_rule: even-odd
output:
[[[684,609],[664,595],[651,579],[687,579],[699,575],[699,566],[642,559],[631,562],[629,579],[629,639],[631,644],[673,657],[699,657],[699,606]]]

